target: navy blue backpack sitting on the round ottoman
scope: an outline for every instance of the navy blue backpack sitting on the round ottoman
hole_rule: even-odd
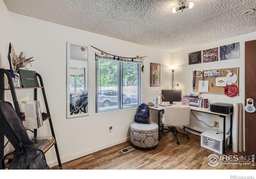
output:
[[[147,104],[143,103],[138,106],[134,120],[138,123],[150,124],[149,108]]]

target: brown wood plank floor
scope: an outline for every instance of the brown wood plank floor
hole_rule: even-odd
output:
[[[185,132],[186,133],[186,132]],[[130,141],[86,155],[62,164],[63,169],[256,169],[250,165],[218,165],[211,167],[206,162],[214,151],[200,146],[200,136],[178,134],[180,145],[172,133],[162,136],[155,149],[134,149],[122,153],[121,149],[132,146]],[[234,153],[228,149],[226,155],[244,156],[244,152]],[[52,167],[56,169],[57,167]]]

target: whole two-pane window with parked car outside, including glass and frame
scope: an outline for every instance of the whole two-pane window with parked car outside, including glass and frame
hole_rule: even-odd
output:
[[[141,63],[96,53],[96,112],[137,107],[141,102]]]

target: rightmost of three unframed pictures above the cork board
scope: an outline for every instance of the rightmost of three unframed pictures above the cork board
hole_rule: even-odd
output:
[[[239,42],[220,47],[220,60],[237,59],[240,57]]]

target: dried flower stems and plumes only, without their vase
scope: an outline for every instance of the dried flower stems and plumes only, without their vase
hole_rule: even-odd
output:
[[[33,57],[30,58],[26,58],[26,52],[21,52],[20,55],[16,55],[15,51],[14,51],[14,47],[11,47],[11,53],[10,53],[10,61],[11,61],[11,65],[12,65],[12,70],[14,73],[17,73],[17,71],[20,68],[26,68],[26,66],[28,65],[28,63],[31,66],[31,62],[34,61],[32,60]]]

